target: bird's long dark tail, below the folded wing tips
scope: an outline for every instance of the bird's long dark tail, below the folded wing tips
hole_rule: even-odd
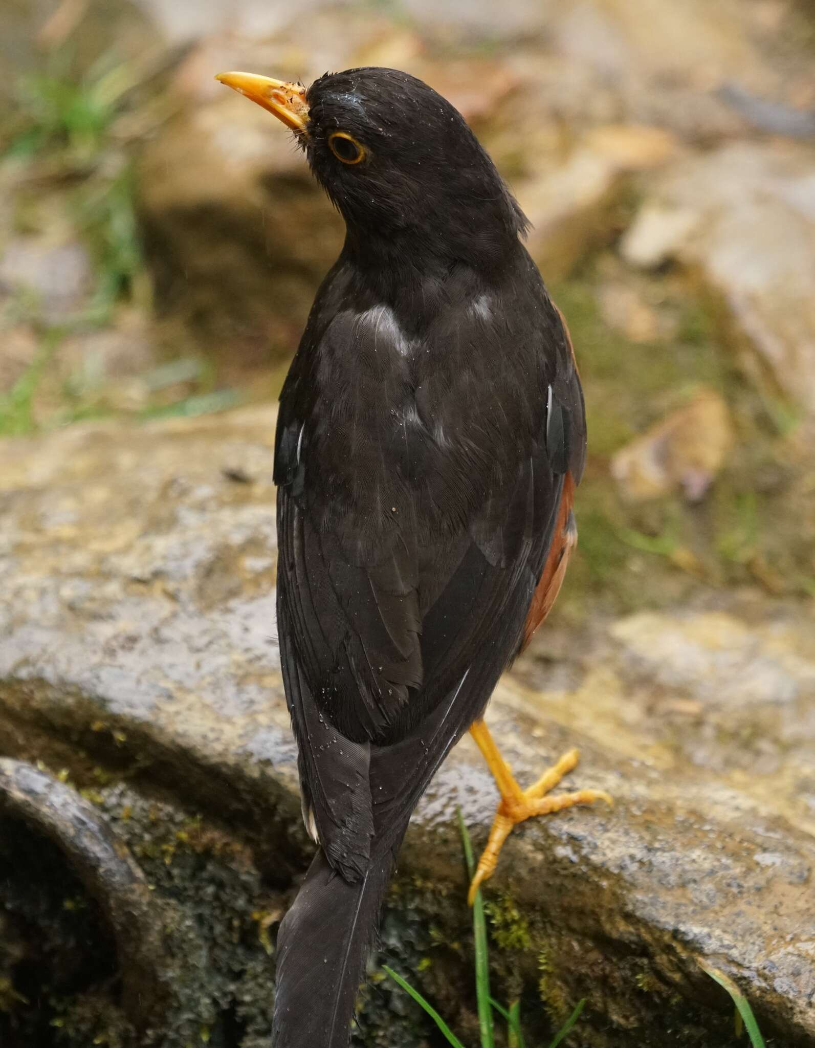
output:
[[[406,828],[406,824],[405,824]],[[396,844],[349,883],[321,849],[278,935],[273,1048],[347,1048],[359,984],[376,936]],[[389,835],[390,836],[390,835]]]

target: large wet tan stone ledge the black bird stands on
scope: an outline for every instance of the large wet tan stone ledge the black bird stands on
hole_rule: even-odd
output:
[[[178,808],[228,820],[267,878],[289,886],[309,846],[274,641],[272,432],[263,408],[2,447],[0,750],[78,779],[125,774],[131,793],[160,788]],[[552,626],[501,682],[489,721],[520,779],[577,744],[574,785],[617,801],[519,830],[488,888],[495,990],[521,994],[536,1040],[548,1016],[587,996],[592,1048],[677,1035],[724,1046],[731,1008],[705,960],[748,992],[766,1033],[812,1042],[813,637],[808,606],[700,593],[580,632]],[[384,923],[384,956],[462,1031],[473,1018],[455,809],[481,844],[494,800],[466,740],[417,812]],[[117,823],[139,861],[139,834],[149,845],[167,816],[156,817]],[[251,866],[223,854],[223,871]],[[181,876],[175,863],[164,868],[184,898],[196,878],[211,885],[207,865],[193,856]],[[248,877],[244,891],[261,889]],[[220,913],[216,896],[200,896],[202,918]],[[256,926],[271,927],[276,908],[259,905]],[[190,958],[197,1014],[215,983],[203,955]],[[258,986],[241,990],[256,1024]],[[420,1043],[420,1017],[399,1001],[374,983],[360,1043]],[[236,1043],[266,1048],[252,1036]]]

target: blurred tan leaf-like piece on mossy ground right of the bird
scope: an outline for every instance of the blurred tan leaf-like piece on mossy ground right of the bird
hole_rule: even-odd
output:
[[[612,459],[612,474],[629,499],[680,489],[702,499],[733,445],[730,412],[720,394],[702,389]]]

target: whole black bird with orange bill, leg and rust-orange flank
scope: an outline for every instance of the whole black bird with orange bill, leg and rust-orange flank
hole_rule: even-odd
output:
[[[408,822],[471,730],[512,826],[591,803],[523,791],[482,721],[576,541],[571,343],[527,220],[461,114],[414,77],[222,83],[294,131],[346,221],[281,394],[278,634],[320,850],[278,939],[276,1048],[345,1048]]]

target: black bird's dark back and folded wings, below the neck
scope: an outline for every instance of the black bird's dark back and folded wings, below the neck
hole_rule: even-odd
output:
[[[531,311],[459,310],[418,364],[386,314],[340,311],[310,325],[284,389],[283,672],[304,805],[349,879],[401,833],[520,650],[582,467],[568,341],[528,292]]]

